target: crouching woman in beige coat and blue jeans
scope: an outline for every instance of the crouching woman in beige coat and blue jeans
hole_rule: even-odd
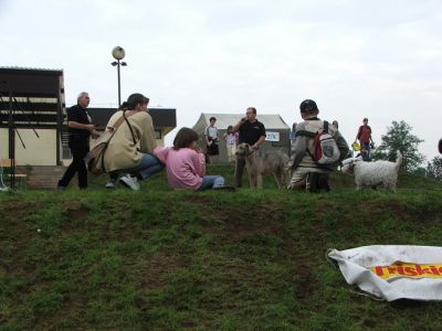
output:
[[[124,110],[113,115],[108,128],[122,117],[125,120],[115,128],[116,132],[106,149],[104,161],[112,178],[127,173],[119,181],[131,190],[139,190],[138,180],[145,180],[159,172],[164,166],[152,156],[157,147],[154,125],[148,114],[149,99],[143,94],[133,94],[123,104]]]

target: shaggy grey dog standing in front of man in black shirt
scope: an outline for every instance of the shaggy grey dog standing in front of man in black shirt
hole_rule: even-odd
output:
[[[259,151],[249,143],[242,142],[236,147],[235,154],[236,158],[245,160],[249,183],[252,189],[262,189],[263,174],[273,174],[278,189],[282,185],[285,186],[290,181],[290,172],[287,170],[288,156],[282,151]]]

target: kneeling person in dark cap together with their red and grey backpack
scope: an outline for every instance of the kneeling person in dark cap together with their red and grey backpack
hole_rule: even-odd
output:
[[[317,116],[319,109],[312,99],[301,103],[304,121],[296,126],[288,168],[293,170],[288,189],[319,192],[329,191],[328,173],[348,153],[348,143],[336,127]]]

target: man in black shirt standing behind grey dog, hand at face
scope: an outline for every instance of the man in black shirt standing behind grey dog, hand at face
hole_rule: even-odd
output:
[[[253,149],[259,149],[260,145],[265,141],[265,127],[256,119],[256,108],[249,107],[243,117],[232,129],[232,134],[240,132],[239,142],[246,142]],[[242,173],[244,172],[245,160],[238,159],[235,162],[235,173],[233,185],[241,188]]]

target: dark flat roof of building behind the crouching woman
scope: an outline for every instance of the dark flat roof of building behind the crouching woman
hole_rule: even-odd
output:
[[[92,121],[98,127],[104,128],[116,108],[87,108]],[[149,108],[156,128],[175,128],[177,126],[177,109],[172,108]]]

